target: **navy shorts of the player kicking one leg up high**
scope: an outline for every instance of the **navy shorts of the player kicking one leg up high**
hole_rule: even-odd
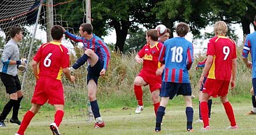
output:
[[[98,59],[97,63],[91,67],[91,65],[88,66],[87,71],[87,85],[88,82],[90,81],[90,79],[93,79],[94,82],[96,83],[96,85],[98,85],[98,79],[99,79],[99,73],[101,72],[101,70],[103,69],[104,66],[104,61]]]

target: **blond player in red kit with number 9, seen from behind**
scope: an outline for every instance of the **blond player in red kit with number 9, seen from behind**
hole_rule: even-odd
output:
[[[208,42],[207,60],[199,80],[199,85],[204,86],[200,98],[200,111],[204,122],[202,130],[210,129],[207,102],[211,96],[215,98],[219,96],[221,99],[230,121],[230,126],[227,128],[237,129],[232,105],[227,100],[229,84],[231,83],[231,89],[236,86],[236,43],[225,37],[227,25],[224,21],[216,21],[214,32],[216,36]],[[207,73],[207,80],[204,83]],[[231,82],[230,78],[232,78]]]

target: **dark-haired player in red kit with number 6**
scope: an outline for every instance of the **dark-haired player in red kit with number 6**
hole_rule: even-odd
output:
[[[62,73],[74,82],[74,76],[69,71],[69,52],[61,45],[64,31],[60,25],[51,28],[51,36],[54,41],[40,46],[32,62],[32,70],[36,85],[31,100],[31,108],[26,112],[16,135],[23,135],[31,119],[47,101],[55,108],[54,122],[50,128],[54,135],[59,135],[58,127],[64,115],[64,92],[62,86]],[[38,68],[39,69],[38,69]],[[38,72],[39,71],[39,72]]]

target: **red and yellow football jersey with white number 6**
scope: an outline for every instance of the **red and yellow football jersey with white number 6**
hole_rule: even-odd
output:
[[[47,76],[61,80],[62,68],[69,67],[69,52],[61,43],[45,43],[40,46],[33,60],[39,63],[39,78]]]

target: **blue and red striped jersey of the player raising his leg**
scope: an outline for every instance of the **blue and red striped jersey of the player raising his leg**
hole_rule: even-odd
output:
[[[70,32],[65,31],[67,37],[69,37],[74,42],[81,42],[83,43],[84,49],[91,49],[94,53],[97,54],[99,59],[104,61],[104,69],[108,68],[109,60],[110,60],[110,52],[106,43],[104,43],[101,38],[97,37],[93,34],[93,38],[86,39],[84,37],[76,37],[75,35],[71,34]]]

